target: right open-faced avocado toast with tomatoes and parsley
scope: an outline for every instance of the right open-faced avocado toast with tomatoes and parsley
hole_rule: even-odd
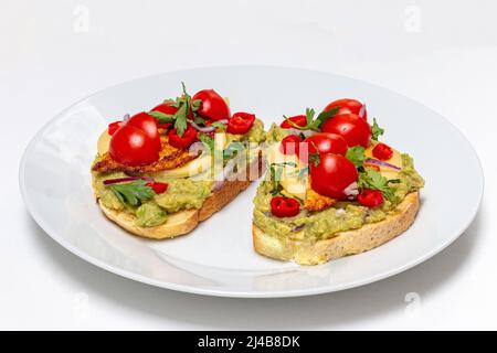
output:
[[[316,265],[370,250],[403,233],[424,181],[412,158],[385,143],[355,99],[315,118],[286,118],[267,132],[268,172],[254,200],[255,250]]]

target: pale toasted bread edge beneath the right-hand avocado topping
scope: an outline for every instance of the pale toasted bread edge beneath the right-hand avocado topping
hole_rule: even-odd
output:
[[[334,258],[368,252],[389,242],[411,226],[419,208],[419,192],[412,192],[399,204],[399,212],[385,220],[366,224],[359,229],[340,232],[329,239],[316,243],[282,242],[253,224],[254,247],[257,253],[279,260],[293,260],[300,265],[324,264]]]

